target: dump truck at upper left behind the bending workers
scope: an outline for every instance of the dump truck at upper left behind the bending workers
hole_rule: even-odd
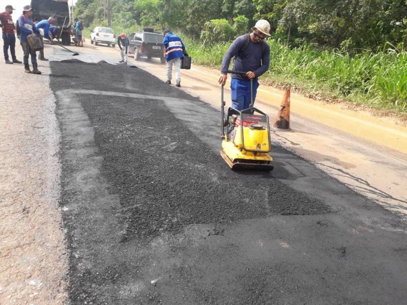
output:
[[[33,20],[41,21],[49,17],[55,18],[62,44],[71,44],[71,15],[68,0],[32,0]]]

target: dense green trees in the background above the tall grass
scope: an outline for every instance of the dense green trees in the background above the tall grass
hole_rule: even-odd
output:
[[[78,0],[76,15],[85,24],[106,22],[107,0]],[[122,28],[171,28],[199,38],[210,20],[235,26],[238,16],[253,25],[265,18],[291,46],[369,49],[407,40],[407,0],[109,0],[112,24]],[[238,19],[239,20],[239,19]],[[218,21],[220,24],[220,21]],[[225,38],[229,28],[224,26]]]

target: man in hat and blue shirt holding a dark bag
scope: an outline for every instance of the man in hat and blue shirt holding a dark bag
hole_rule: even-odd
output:
[[[27,42],[27,36],[33,34],[34,23],[31,20],[32,16],[33,9],[31,6],[26,5],[23,8],[22,15],[18,18],[18,24],[20,27],[20,44],[24,52],[24,70],[26,73],[41,74],[41,72],[38,71],[37,54]],[[28,65],[28,57],[30,55],[33,71],[30,70],[30,65]]]

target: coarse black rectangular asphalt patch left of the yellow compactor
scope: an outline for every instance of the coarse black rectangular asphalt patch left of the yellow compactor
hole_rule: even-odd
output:
[[[269,173],[236,173],[162,101],[79,96],[95,129],[109,192],[126,208],[124,238],[196,223],[326,214],[321,201]]]

